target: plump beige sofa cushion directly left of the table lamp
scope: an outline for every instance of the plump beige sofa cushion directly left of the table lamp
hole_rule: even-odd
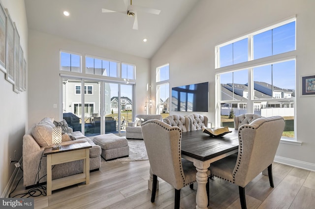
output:
[[[32,129],[32,136],[34,137],[35,141],[41,147],[52,146],[52,133],[53,127],[45,124],[39,123],[36,124]]]

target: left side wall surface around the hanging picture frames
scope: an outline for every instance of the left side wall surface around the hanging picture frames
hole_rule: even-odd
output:
[[[20,35],[20,45],[27,60],[28,25],[24,0],[1,0],[1,3],[8,9],[12,21],[16,24]],[[0,197],[5,195],[5,187],[15,168],[14,163],[9,163],[9,157],[11,160],[19,160],[22,157],[22,138],[28,116],[27,93],[14,93],[12,84],[6,81],[4,73],[0,72]],[[15,150],[16,157],[14,158]]]

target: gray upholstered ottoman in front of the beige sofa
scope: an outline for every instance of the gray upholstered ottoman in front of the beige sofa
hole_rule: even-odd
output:
[[[93,141],[102,148],[101,156],[105,160],[129,156],[128,141],[124,136],[107,133],[93,137]]]

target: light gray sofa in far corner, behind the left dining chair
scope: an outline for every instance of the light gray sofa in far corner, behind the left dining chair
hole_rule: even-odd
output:
[[[151,119],[162,121],[162,115],[136,115],[133,122],[129,122],[126,127],[127,139],[143,139],[141,124]]]

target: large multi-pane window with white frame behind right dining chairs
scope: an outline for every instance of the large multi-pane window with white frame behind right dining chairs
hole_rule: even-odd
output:
[[[295,18],[216,47],[216,125],[245,113],[280,115],[295,138]],[[276,56],[277,55],[277,56]]]

